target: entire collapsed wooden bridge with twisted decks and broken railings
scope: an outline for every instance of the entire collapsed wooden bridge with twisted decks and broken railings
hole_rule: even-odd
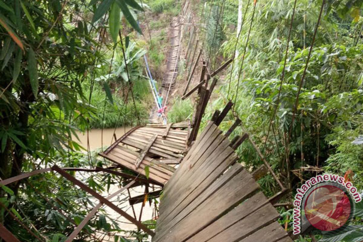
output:
[[[184,7],[184,12],[186,9],[187,7]],[[179,26],[173,27],[176,32],[180,31]],[[174,42],[178,41],[175,37]],[[177,47],[176,44],[173,46],[174,49]],[[175,51],[170,53],[171,56],[175,54]],[[171,58],[168,64],[168,67],[172,68],[174,65],[174,68],[168,68],[170,75],[167,74],[164,89],[170,88],[174,83],[176,59]],[[236,119],[224,134],[219,128],[231,111],[233,103],[228,102],[223,110],[216,110],[207,126],[199,132],[205,108],[218,82],[215,76],[231,62],[232,60],[228,60],[212,73],[203,62],[200,82],[191,89],[188,88],[191,78],[188,78],[183,99],[197,93],[196,109],[191,120],[134,127],[104,152],[99,153],[112,161],[113,166],[83,169],[60,168],[54,165],[0,181],[0,185],[19,182],[45,172],[56,172],[96,198],[99,203],[81,223],[77,224],[72,218],[66,217],[75,226],[66,241],[75,239],[101,206],[107,205],[151,235],[154,242],[291,242],[289,235],[277,222],[279,214],[273,206],[287,189],[277,179],[248,134],[229,140],[229,135],[240,125],[241,120]],[[194,69],[195,67],[191,75]],[[264,161],[264,165],[252,174],[237,162],[235,152],[246,140],[252,142]],[[125,173],[125,170],[131,171],[134,175]],[[66,171],[110,173],[122,177],[126,185],[108,197],[103,197]],[[266,198],[256,182],[266,172],[270,172],[281,186],[281,192],[271,198]],[[145,193],[129,197],[129,203],[132,206],[150,197],[160,197],[159,218],[155,231],[142,223],[141,214],[139,218],[136,215],[132,217],[110,201],[125,190],[140,185],[146,187]],[[149,191],[151,186],[156,186],[157,189]],[[59,210],[56,207],[54,209]],[[8,212],[12,214],[11,211]],[[16,216],[13,217],[19,220]],[[24,226],[23,223],[21,225]],[[38,241],[43,241],[32,230],[27,227],[25,229]],[[2,225],[0,237],[7,242],[20,241]]]

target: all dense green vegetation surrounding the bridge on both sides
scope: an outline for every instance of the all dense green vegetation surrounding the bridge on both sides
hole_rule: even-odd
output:
[[[211,70],[236,55],[230,70],[220,76],[222,83],[204,121],[232,100],[233,113],[220,127],[227,130],[238,116],[242,125],[232,138],[248,132],[287,187],[296,189],[316,174],[309,168],[318,167],[352,174],[362,192],[363,2],[294,3],[195,1],[196,16],[205,24],[200,41],[211,56]],[[160,81],[167,28],[179,6],[174,0],[0,0],[1,179],[53,164],[109,165],[95,153],[82,153],[72,136],[91,128],[146,122],[153,99],[144,76],[144,55],[152,76]],[[238,7],[243,17],[240,33],[236,33]],[[180,71],[183,65],[181,61]],[[170,122],[191,117],[190,100],[177,98],[173,103]],[[250,171],[262,164],[248,142],[237,152]],[[123,182],[113,175],[77,176],[98,192]],[[258,182],[267,196],[280,191],[271,175]],[[94,206],[88,194],[52,173],[3,186],[0,202],[6,207],[0,207],[0,222],[21,241],[39,240],[11,214],[36,227],[34,233],[44,241],[64,241],[73,225],[54,207],[79,224]],[[359,211],[354,225],[362,225]],[[291,211],[280,212],[281,223],[291,225]],[[97,241],[90,233],[123,232],[106,218],[105,211],[94,216],[77,241]],[[130,235],[139,241],[145,237],[137,231]],[[352,226],[344,235],[323,241],[362,239],[360,228]]]

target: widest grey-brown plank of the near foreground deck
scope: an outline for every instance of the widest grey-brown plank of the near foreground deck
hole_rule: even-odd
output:
[[[240,164],[236,165],[241,167]],[[216,180],[204,193],[204,196],[197,198],[198,200],[204,200],[197,208],[192,211],[183,210],[178,218],[183,217],[184,219],[176,224],[172,220],[165,233],[156,234],[154,241],[184,241],[192,237],[218,220],[227,210],[252,196],[259,187],[245,170],[233,175],[227,171],[220,179]],[[200,216],[200,214],[203,214],[203,216]],[[175,220],[178,221],[178,218]]]

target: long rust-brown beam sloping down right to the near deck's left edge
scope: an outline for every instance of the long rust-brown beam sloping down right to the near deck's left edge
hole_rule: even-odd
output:
[[[134,223],[139,229],[144,230],[147,234],[149,234],[151,236],[154,236],[155,235],[154,231],[151,231],[150,229],[148,229],[145,225],[143,225],[139,221],[135,220],[135,218],[131,217],[128,213],[126,213],[125,211],[123,211],[121,208],[119,208],[118,206],[116,206],[111,201],[107,200],[106,198],[102,197],[100,194],[98,194],[97,192],[95,192],[94,190],[92,190],[91,188],[89,188],[89,186],[83,184],[81,181],[77,180],[76,178],[74,178],[73,176],[71,176],[70,174],[68,174],[67,172],[63,171],[57,165],[53,165],[52,170],[58,172],[65,179],[73,182],[74,185],[79,186],[79,188],[81,188],[82,190],[85,190],[86,192],[88,192],[89,194],[91,194],[92,196],[94,196],[95,198],[97,198],[100,202],[106,204],[111,209],[115,210],[115,212],[117,212],[121,216],[125,217],[131,223]]]

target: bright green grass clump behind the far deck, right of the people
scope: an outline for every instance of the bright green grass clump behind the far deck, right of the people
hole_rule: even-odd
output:
[[[170,111],[168,111],[168,121],[171,123],[183,122],[192,117],[193,104],[190,99],[176,99]]]

